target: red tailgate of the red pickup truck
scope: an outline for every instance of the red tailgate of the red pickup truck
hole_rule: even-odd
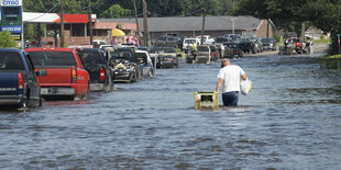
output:
[[[72,68],[36,68],[37,70],[46,70],[47,76],[38,77],[41,86],[66,86],[72,83]]]

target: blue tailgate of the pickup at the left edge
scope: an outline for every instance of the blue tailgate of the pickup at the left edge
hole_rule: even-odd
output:
[[[18,94],[18,72],[0,72],[0,95]]]

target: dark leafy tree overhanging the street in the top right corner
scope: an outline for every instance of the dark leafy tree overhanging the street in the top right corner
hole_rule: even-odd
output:
[[[336,34],[341,33],[340,11],[341,0],[241,0],[234,13],[288,23],[286,29],[290,23],[309,21],[322,31],[331,33],[331,54],[336,54]]]

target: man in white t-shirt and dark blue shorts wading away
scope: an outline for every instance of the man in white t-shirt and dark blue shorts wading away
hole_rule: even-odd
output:
[[[241,91],[241,79],[246,80],[245,71],[237,65],[231,65],[229,58],[223,58],[222,68],[218,75],[216,91],[219,93],[221,84],[223,83],[222,102],[224,106],[238,105],[239,92]]]

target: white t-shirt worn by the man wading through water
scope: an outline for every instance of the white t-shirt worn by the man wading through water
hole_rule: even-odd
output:
[[[245,75],[244,70],[235,65],[221,68],[218,78],[223,79],[222,92],[241,91],[242,75]]]

